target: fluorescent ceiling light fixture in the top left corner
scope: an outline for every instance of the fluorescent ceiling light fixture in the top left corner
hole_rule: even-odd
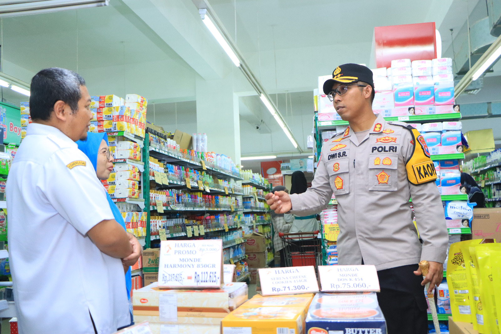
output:
[[[108,6],[109,0],[17,0],[0,5],[0,17],[60,12],[90,7]]]

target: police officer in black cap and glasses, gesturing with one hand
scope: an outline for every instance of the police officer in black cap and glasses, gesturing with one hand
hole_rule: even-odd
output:
[[[306,193],[266,196],[276,213],[311,215],[332,194],[338,201],[338,263],[372,264],[378,271],[378,301],[388,333],[427,332],[426,300],[442,281],[448,235],[436,172],[424,138],[402,122],[374,114],[372,71],[338,66],[323,86],[346,130],[325,142],[312,187]],[[419,236],[412,223],[412,205]],[[418,262],[427,260],[423,280]]]

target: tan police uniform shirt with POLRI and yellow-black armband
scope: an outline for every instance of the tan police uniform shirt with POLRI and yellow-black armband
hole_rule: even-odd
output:
[[[291,195],[291,213],[306,216],[326,208],[334,192],[338,264],[363,259],[383,270],[445,261],[448,234],[436,172],[422,136],[405,126],[379,114],[361,142],[348,127],[324,143],[312,187]]]

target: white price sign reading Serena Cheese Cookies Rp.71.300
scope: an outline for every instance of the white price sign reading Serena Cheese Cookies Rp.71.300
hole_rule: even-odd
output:
[[[258,271],[264,296],[318,292],[313,266],[260,268]]]

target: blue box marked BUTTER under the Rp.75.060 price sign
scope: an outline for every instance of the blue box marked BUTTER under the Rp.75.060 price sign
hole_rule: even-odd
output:
[[[308,309],[305,332],[384,334],[386,322],[375,293],[320,292]]]

